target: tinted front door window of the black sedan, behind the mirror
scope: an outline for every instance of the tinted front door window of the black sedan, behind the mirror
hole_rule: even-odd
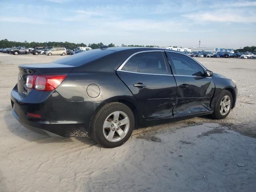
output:
[[[166,52],[174,75],[204,76],[203,68],[193,59],[179,53]]]

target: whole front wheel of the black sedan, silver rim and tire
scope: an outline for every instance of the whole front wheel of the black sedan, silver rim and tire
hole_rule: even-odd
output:
[[[224,119],[230,113],[232,107],[232,94],[228,90],[223,90],[214,104],[213,117]]]

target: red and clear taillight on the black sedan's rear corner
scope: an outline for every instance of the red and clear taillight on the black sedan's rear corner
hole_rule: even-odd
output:
[[[27,88],[35,88],[40,91],[55,90],[66,75],[28,75],[26,79]]]

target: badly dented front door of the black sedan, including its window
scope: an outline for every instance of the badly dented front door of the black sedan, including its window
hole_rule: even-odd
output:
[[[174,116],[209,112],[215,90],[212,78],[206,77],[205,69],[189,56],[168,51],[166,54],[177,83]]]

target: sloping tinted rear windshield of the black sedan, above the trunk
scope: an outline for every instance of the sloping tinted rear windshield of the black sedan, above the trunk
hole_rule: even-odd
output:
[[[80,52],[72,56],[56,60],[54,61],[54,63],[62,65],[81,66],[83,64],[99,59],[111,53],[114,53],[114,51],[94,49],[90,51]]]

